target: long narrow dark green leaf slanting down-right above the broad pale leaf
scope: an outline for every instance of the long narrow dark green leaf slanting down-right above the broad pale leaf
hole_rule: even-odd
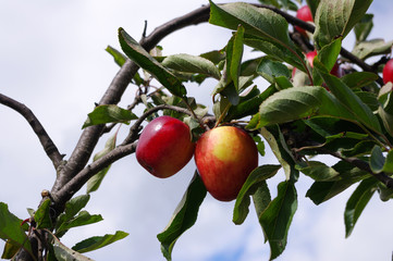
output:
[[[318,58],[314,59],[314,67],[318,70],[334,97],[342,103],[342,105],[347,108],[347,111],[349,111],[357,121],[376,132],[381,132],[379,121],[372,111],[348,86],[340,80],[340,78],[331,75],[319,62]]]

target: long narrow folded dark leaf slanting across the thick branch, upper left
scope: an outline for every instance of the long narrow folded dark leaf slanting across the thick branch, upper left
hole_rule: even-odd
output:
[[[125,54],[157,78],[172,95],[184,97],[187,91],[183,84],[170,71],[155,60],[123,28],[119,28],[119,41]]]

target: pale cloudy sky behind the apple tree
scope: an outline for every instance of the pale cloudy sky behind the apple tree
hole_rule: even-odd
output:
[[[108,45],[120,49],[118,28],[123,27],[139,39],[145,21],[149,33],[207,3],[205,0],[0,0],[0,92],[29,107],[60,152],[70,156],[87,113],[119,70],[105,51]],[[374,1],[369,11],[376,14],[370,38],[392,40],[393,32],[385,26],[393,24],[390,1]],[[224,28],[202,24],[182,29],[160,45],[164,55],[199,54],[221,49],[230,36],[231,32]],[[349,50],[353,39],[349,35],[344,40]],[[213,80],[202,86],[192,85],[188,92],[197,101],[209,104],[214,85]],[[120,105],[126,107],[134,92],[134,87],[128,87]],[[0,105],[0,201],[8,203],[12,213],[26,219],[26,208],[37,208],[40,191],[51,188],[56,173],[37,137],[20,114]],[[120,136],[125,133],[126,126],[123,126]],[[106,138],[108,136],[99,142],[97,151],[103,148]],[[268,150],[259,163],[273,164],[277,160]],[[105,220],[70,231],[63,243],[72,247],[87,237],[124,231],[130,233],[125,239],[86,256],[95,260],[164,260],[156,236],[168,224],[194,170],[195,164],[191,161],[175,176],[159,179],[139,166],[134,154],[121,159],[112,165],[86,207],[89,213],[100,213]],[[269,181],[273,197],[282,181],[282,172]],[[345,239],[343,211],[353,189],[315,206],[305,197],[311,183],[302,176],[296,184],[298,209],[288,232],[286,250],[277,260],[391,259],[392,202],[381,202],[376,195],[352,236]],[[85,187],[78,195],[84,192]],[[255,211],[250,208],[245,223],[236,226],[232,223],[233,206],[234,202],[220,202],[208,195],[196,224],[177,240],[173,260],[268,260],[269,245],[263,244]],[[3,241],[0,241],[2,247]]]

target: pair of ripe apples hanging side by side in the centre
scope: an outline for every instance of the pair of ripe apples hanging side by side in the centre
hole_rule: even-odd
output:
[[[249,173],[258,166],[253,138],[234,126],[214,127],[192,141],[188,125],[171,116],[148,123],[136,148],[139,164],[157,177],[169,177],[195,158],[206,189],[218,200],[237,197]]]

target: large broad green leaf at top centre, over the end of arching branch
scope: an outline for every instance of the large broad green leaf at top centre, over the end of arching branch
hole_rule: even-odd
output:
[[[242,2],[217,5],[210,1],[209,23],[233,30],[241,24],[247,35],[246,45],[258,46],[265,53],[304,70],[302,54],[290,38],[287,22],[269,9]]]

